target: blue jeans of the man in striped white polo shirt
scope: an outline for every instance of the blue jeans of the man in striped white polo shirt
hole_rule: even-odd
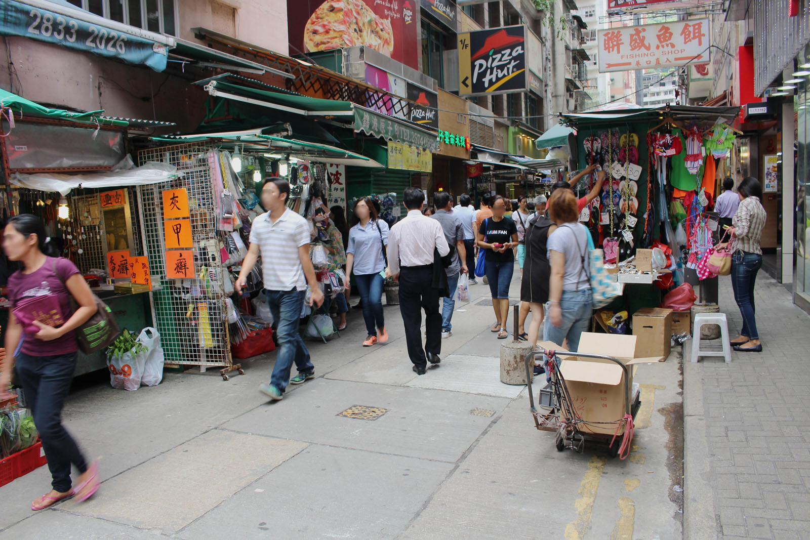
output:
[[[267,305],[276,321],[275,338],[279,351],[275,355],[275,366],[270,384],[283,393],[290,381],[292,363],[296,363],[299,373],[313,373],[315,366],[309,361],[309,351],[298,333],[298,321],[304,305],[306,291],[267,291]]]

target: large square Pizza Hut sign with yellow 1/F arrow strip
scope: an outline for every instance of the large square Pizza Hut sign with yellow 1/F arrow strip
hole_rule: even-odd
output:
[[[526,28],[458,34],[459,96],[527,91]]]

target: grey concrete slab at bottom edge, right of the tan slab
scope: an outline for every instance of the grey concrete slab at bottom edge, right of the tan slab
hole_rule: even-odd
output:
[[[228,523],[232,538],[396,538],[452,468],[312,444],[178,536]]]

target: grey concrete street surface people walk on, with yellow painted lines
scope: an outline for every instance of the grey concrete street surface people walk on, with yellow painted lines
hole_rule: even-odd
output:
[[[629,459],[558,453],[526,387],[499,381],[488,287],[471,293],[424,376],[392,306],[385,346],[360,347],[360,313],[308,342],[317,377],[281,402],[257,391],[275,353],[227,382],[190,371],[71,394],[65,423],[101,489],[33,513],[49,486],[35,470],[0,487],[0,538],[681,538],[678,355],[638,367]]]

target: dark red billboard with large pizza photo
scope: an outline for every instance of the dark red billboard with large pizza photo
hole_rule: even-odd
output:
[[[416,0],[288,0],[290,54],[364,45],[419,69]]]

